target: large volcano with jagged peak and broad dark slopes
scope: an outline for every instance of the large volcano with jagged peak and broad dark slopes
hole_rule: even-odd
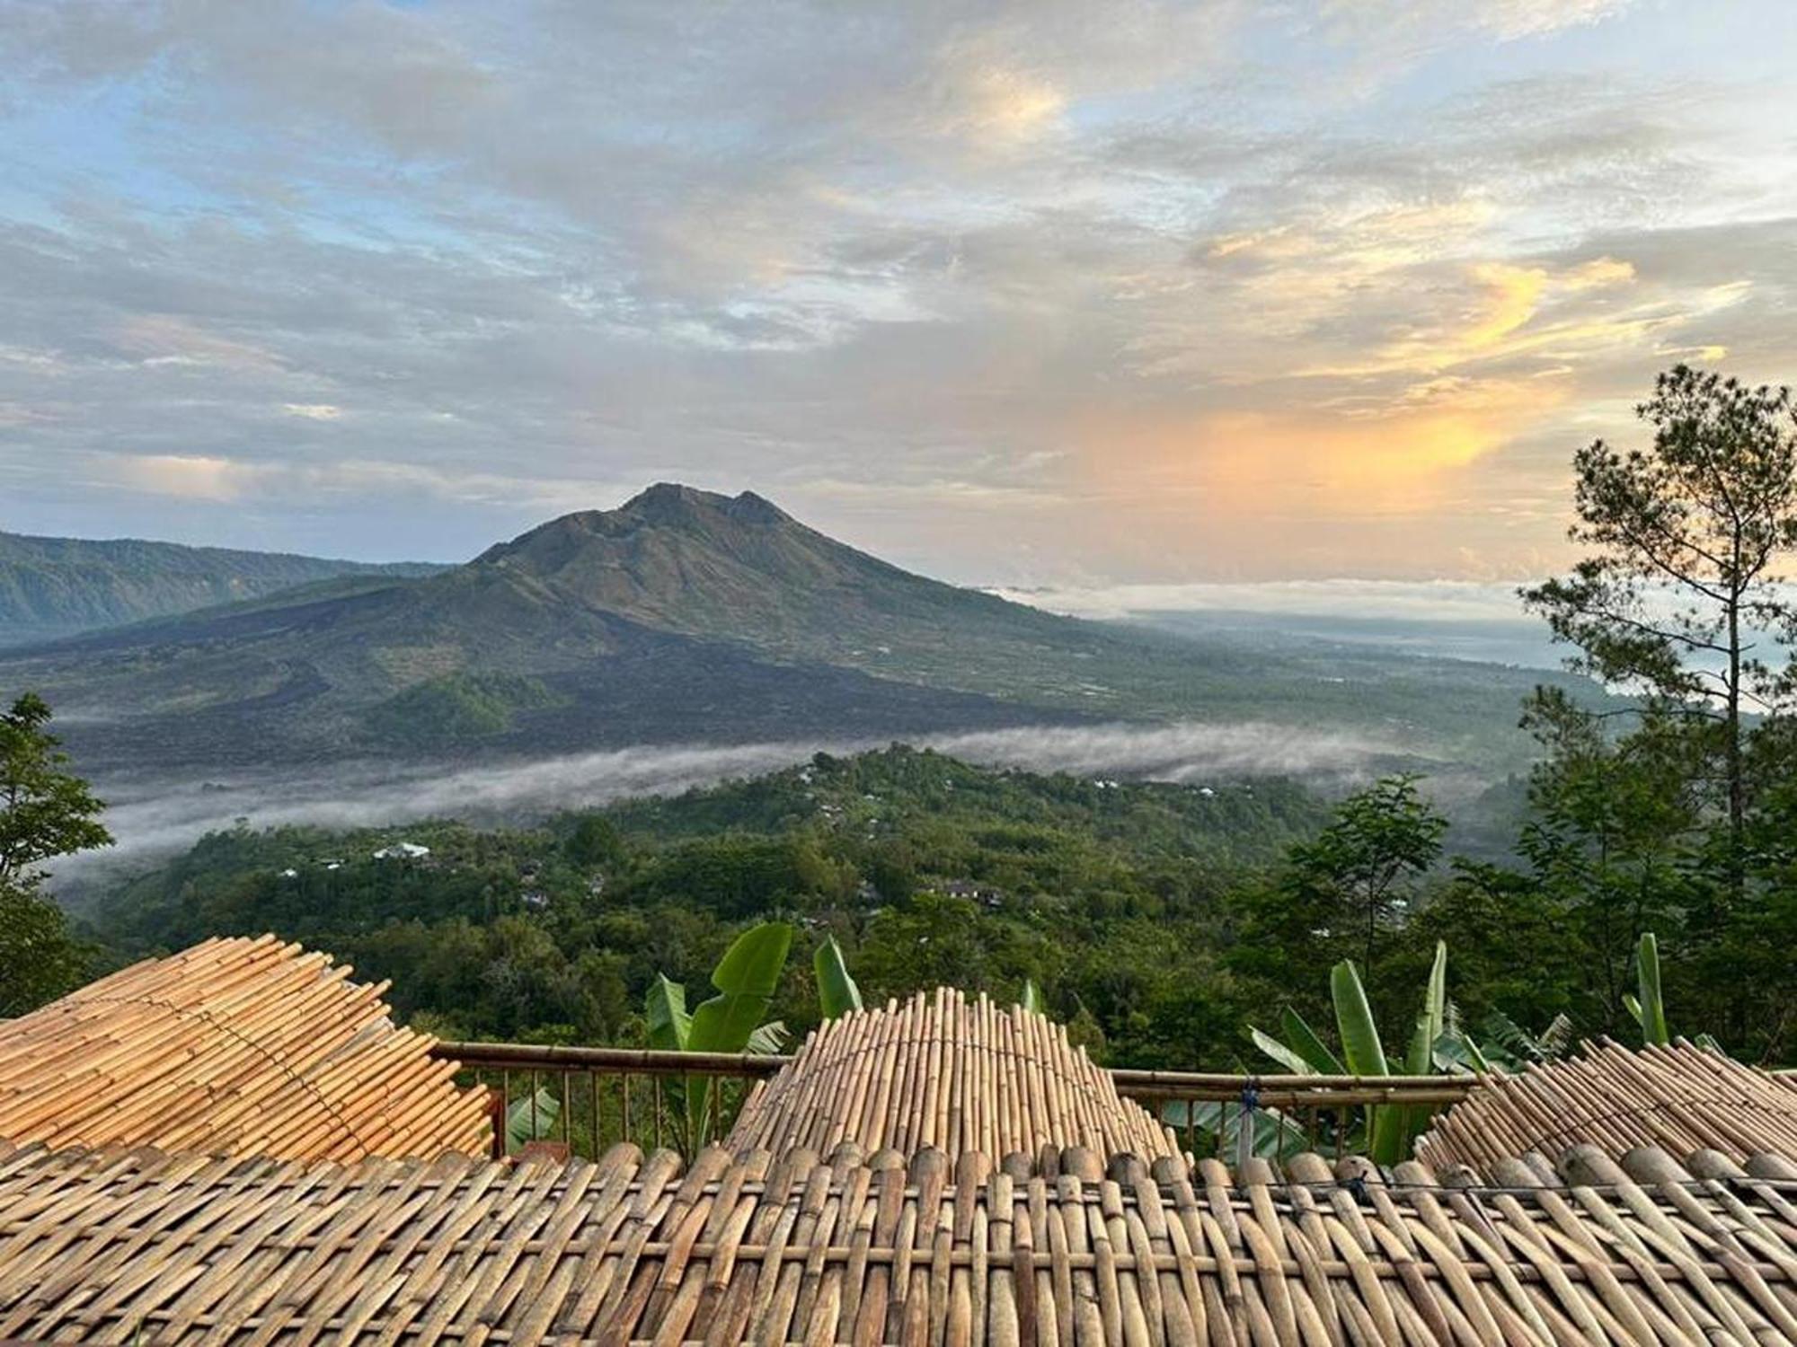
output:
[[[7,652],[90,769],[1281,722],[1520,762],[1535,674],[1060,618],[898,569],[744,492],[651,487],[437,575],[352,575]],[[1278,763],[1267,763],[1270,770]]]

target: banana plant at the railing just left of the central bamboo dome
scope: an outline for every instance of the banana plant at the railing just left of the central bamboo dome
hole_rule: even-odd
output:
[[[791,946],[792,927],[785,921],[744,930],[712,970],[717,995],[694,1011],[686,1009],[686,988],[658,973],[643,1004],[649,1045],[672,1052],[778,1052],[785,1026],[762,1024],[762,1017],[773,1004]],[[685,1076],[668,1087],[681,1112],[688,1155],[697,1155],[712,1139],[713,1114],[722,1112],[713,1106],[717,1088],[719,1081],[710,1076]]]

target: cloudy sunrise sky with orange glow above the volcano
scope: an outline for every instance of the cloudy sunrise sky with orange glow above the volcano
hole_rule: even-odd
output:
[[[1797,377],[1788,0],[0,0],[0,528],[651,481],[951,580],[1500,585]],[[1375,591],[1377,593],[1377,591]]]

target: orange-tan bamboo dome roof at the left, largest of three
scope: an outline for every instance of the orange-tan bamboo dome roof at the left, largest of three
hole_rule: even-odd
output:
[[[487,1155],[487,1099],[386,984],[273,936],[210,939],[0,1024],[0,1137],[295,1160]]]

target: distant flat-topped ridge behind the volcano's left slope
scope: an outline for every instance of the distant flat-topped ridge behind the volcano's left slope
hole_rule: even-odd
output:
[[[341,575],[410,577],[433,569],[438,568],[0,532],[0,645],[259,598]]]

